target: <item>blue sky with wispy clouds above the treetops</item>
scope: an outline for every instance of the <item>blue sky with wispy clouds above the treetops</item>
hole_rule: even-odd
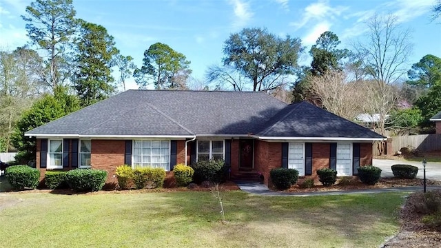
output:
[[[20,15],[30,0],[0,0],[0,47],[13,50],[28,41]],[[121,54],[140,66],[143,53],[156,42],[170,45],[191,61],[193,76],[203,81],[207,66],[220,63],[229,34],[247,27],[267,28],[282,37],[298,37],[307,51],[327,30],[342,48],[363,39],[372,14],[392,13],[411,29],[413,54],[441,57],[441,20],[431,22],[435,0],[74,0],[76,17],[103,25]],[[308,63],[307,54],[301,58]],[[130,80],[130,88],[137,88]]]

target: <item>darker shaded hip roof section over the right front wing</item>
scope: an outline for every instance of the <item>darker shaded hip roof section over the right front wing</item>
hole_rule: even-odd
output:
[[[376,132],[307,102],[287,105],[271,118],[258,136],[383,138]]]

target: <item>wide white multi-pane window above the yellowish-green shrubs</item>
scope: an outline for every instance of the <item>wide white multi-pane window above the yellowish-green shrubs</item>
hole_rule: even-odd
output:
[[[170,171],[170,141],[133,141],[133,167]]]

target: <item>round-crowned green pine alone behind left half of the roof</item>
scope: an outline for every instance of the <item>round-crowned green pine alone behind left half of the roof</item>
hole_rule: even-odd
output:
[[[163,43],[154,43],[144,52],[143,66],[134,70],[134,78],[141,88],[154,83],[156,90],[185,88],[185,81],[192,73],[190,61]]]

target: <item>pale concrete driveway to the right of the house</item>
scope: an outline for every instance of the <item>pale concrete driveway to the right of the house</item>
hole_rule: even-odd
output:
[[[373,159],[373,166],[379,167],[381,169],[382,177],[392,177],[392,165],[405,164],[413,165],[418,167],[417,178],[423,178],[422,161],[421,162],[411,162],[411,161],[396,161],[390,159]],[[427,162],[426,165],[426,178],[430,180],[441,180],[441,163]]]

